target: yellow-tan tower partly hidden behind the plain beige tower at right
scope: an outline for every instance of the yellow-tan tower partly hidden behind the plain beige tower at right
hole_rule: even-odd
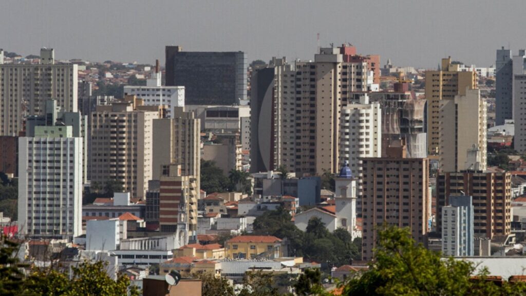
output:
[[[477,88],[477,72],[461,72],[461,65],[452,64],[451,57],[442,58],[440,71],[426,71],[426,100],[428,102],[428,152],[440,150],[440,102],[466,95],[467,89]]]

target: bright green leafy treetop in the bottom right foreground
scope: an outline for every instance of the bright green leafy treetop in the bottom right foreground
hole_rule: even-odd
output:
[[[470,281],[474,266],[453,258],[442,259],[415,244],[408,229],[385,226],[379,231],[376,261],[369,270],[351,278],[343,295],[493,295],[494,287],[484,281]],[[496,287],[496,286],[495,286]],[[498,294],[498,293],[497,293]]]

